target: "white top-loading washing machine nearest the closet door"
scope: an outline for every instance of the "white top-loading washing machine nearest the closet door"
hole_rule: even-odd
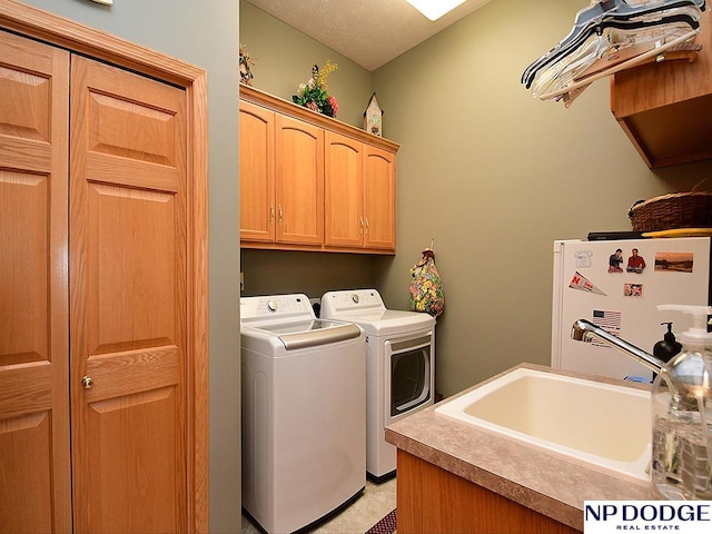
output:
[[[243,506],[269,534],[314,525],[366,485],[366,347],[306,295],[240,299]]]

